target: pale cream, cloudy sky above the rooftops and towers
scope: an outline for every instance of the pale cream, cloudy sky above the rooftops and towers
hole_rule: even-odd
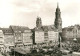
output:
[[[0,0],[0,27],[36,26],[37,16],[43,25],[52,25],[59,3],[62,27],[80,25],[80,0]]]

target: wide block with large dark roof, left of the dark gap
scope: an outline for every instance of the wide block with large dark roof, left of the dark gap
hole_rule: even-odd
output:
[[[32,32],[25,26],[10,26],[14,32],[15,46],[26,47],[32,45]]]

